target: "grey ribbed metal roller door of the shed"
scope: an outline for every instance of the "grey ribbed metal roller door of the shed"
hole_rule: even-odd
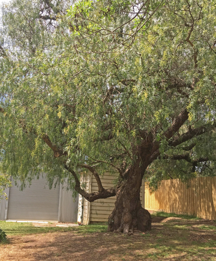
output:
[[[20,191],[10,188],[7,220],[58,221],[60,185],[49,189],[46,177],[33,180],[31,186]]]

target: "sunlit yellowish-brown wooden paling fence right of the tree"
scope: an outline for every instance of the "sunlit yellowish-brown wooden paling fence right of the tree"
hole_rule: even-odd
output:
[[[216,220],[216,177],[193,178],[189,183],[164,180],[154,193],[146,186],[145,208]]]

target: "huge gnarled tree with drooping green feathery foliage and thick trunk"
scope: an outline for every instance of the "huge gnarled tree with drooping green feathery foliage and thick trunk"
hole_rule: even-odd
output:
[[[2,23],[4,173],[23,184],[40,171],[50,185],[68,176],[89,201],[116,195],[108,231],[131,234],[151,228],[146,170],[214,172],[213,2],[13,1]],[[80,184],[86,169],[96,193]],[[100,181],[107,170],[119,173],[114,188]]]

